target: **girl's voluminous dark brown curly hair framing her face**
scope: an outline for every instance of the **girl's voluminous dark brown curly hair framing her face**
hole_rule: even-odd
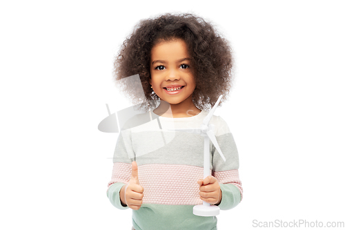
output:
[[[148,111],[159,97],[150,87],[150,52],[161,40],[183,39],[193,66],[195,90],[193,103],[199,109],[211,108],[219,95],[226,100],[233,79],[233,55],[228,41],[213,26],[192,14],[161,15],[141,20],[121,46],[115,59],[115,80],[139,74],[140,82],[117,84],[134,104]],[[144,88],[144,95],[137,90]],[[220,104],[221,104],[220,102]]]

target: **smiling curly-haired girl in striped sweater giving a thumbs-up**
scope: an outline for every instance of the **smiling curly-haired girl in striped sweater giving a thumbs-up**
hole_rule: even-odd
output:
[[[217,229],[217,218],[194,215],[193,206],[205,201],[232,209],[242,200],[237,148],[221,117],[214,115],[210,124],[227,161],[210,144],[212,176],[204,179],[204,137],[160,129],[199,127],[206,110],[229,92],[231,70],[226,39],[194,15],[141,21],[124,41],[116,79],[139,73],[140,86],[121,89],[160,121],[156,129],[152,120],[122,130],[115,148],[107,196],[118,209],[133,209],[134,229]]]

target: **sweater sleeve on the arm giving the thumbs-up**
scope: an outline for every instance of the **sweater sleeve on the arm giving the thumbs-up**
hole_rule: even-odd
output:
[[[112,177],[108,182],[108,190],[106,194],[110,203],[117,209],[128,209],[121,204],[120,190],[122,186],[130,180],[132,171],[132,155],[134,155],[130,144],[129,130],[121,131],[117,139],[114,157],[112,158]]]

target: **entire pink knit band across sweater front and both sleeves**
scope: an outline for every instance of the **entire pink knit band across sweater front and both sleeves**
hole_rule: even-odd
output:
[[[115,182],[128,183],[132,165],[115,163],[108,188]],[[145,164],[138,166],[139,184],[144,188],[143,203],[195,205],[202,204],[197,180],[204,178],[204,169],[177,164]],[[242,200],[242,183],[237,170],[215,172],[219,183],[234,184]]]

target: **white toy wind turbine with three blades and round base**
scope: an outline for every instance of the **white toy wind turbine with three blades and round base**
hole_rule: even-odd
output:
[[[210,175],[210,140],[217,149],[219,155],[224,160],[224,162],[226,161],[224,154],[221,152],[219,148],[219,144],[216,140],[215,133],[213,133],[215,126],[213,124],[208,124],[210,122],[211,117],[213,116],[213,113],[215,113],[215,110],[221,100],[221,97],[223,96],[219,96],[215,106],[213,106],[210,113],[208,113],[208,115],[204,118],[200,128],[181,128],[174,130],[184,131],[188,133],[197,133],[201,136],[204,136],[204,178]],[[193,214],[200,216],[215,216],[219,214],[219,210],[219,207],[213,205],[211,206],[207,202],[203,201],[203,204],[199,204],[193,207]]]

